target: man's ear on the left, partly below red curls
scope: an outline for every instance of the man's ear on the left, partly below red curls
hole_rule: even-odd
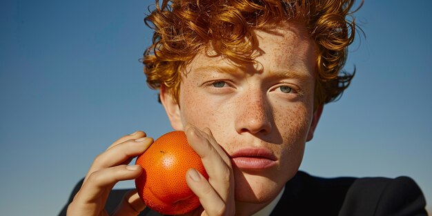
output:
[[[183,124],[181,122],[180,106],[175,101],[173,95],[170,94],[166,86],[161,85],[160,95],[161,103],[165,108],[166,115],[170,119],[171,126],[174,130],[183,130]]]

